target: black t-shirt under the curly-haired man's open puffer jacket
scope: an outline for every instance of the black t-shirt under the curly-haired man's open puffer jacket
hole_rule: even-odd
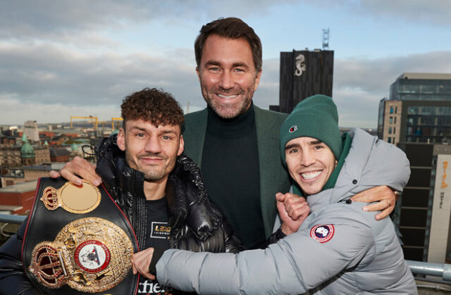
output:
[[[147,201],[147,237],[146,249],[149,247],[169,249],[168,203],[166,198]],[[172,289],[165,289],[156,280],[149,280],[140,276],[140,286],[137,294],[170,295]]]

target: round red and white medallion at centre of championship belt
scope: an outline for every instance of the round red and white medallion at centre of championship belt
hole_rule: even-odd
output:
[[[75,263],[85,272],[99,272],[110,263],[111,254],[104,243],[96,240],[84,241],[74,253]]]

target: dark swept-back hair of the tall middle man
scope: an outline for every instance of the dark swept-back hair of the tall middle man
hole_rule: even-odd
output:
[[[220,37],[229,39],[245,38],[252,50],[252,58],[254,59],[254,66],[257,73],[261,69],[261,42],[259,36],[255,34],[254,29],[249,27],[247,23],[240,20],[240,18],[218,18],[203,25],[199,31],[199,35],[194,42],[194,55],[196,56],[197,67],[200,66],[202,58],[202,51],[206,39],[211,34],[217,34]]]

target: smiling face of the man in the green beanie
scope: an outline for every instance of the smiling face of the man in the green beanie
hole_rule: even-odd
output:
[[[291,177],[307,195],[321,192],[337,163],[329,147],[311,137],[285,144],[285,159]]]

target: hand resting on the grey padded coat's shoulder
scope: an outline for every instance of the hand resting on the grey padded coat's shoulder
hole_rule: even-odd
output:
[[[395,209],[397,192],[393,192],[390,187],[383,185],[381,187],[366,189],[366,191],[353,196],[351,200],[365,203],[378,202],[364,206],[363,209],[364,211],[382,211],[376,214],[376,220],[381,220],[390,215]]]

